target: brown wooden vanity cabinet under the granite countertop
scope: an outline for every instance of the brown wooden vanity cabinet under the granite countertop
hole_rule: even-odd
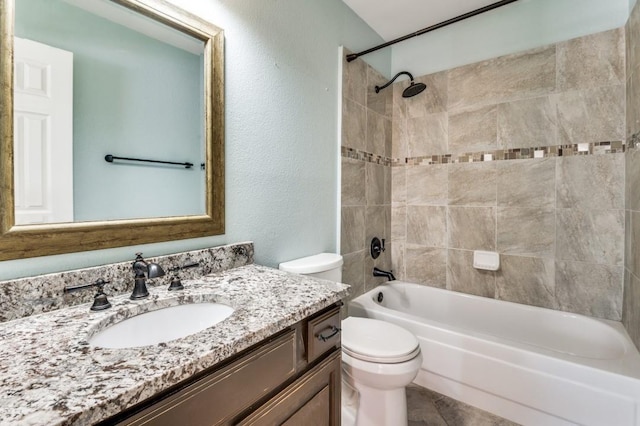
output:
[[[339,325],[324,309],[102,424],[337,426]]]

